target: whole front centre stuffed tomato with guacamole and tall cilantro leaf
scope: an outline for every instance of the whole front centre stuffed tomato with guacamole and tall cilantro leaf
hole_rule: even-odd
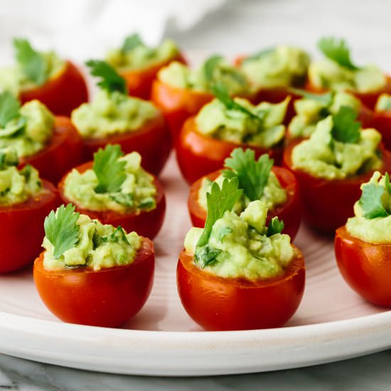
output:
[[[262,200],[232,212],[241,196],[237,178],[213,183],[205,228],[191,228],[178,260],[182,304],[206,330],[282,326],[303,296],[304,258],[281,234],[284,223],[273,218],[265,226]]]

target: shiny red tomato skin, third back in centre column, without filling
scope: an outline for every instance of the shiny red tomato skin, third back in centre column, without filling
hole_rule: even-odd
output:
[[[188,183],[193,183],[201,176],[223,168],[225,159],[235,148],[252,149],[255,151],[256,159],[262,154],[269,154],[277,165],[282,160],[283,151],[282,146],[267,150],[259,146],[236,144],[204,136],[198,132],[195,117],[188,118],[183,124],[181,133],[175,141],[175,148],[179,168]]]

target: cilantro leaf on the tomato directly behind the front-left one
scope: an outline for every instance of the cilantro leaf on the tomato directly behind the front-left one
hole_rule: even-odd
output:
[[[126,162],[118,160],[123,155],[124,152],[117,144],[108,144],[105,149],[100,149],[94,154],[92,169],[98,180],[96,193],[117,193],[121,190],[122,183],[127,178]]]

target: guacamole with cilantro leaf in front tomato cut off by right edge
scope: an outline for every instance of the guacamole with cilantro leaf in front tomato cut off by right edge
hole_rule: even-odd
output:
[[[354,205],[353,218],[346,223],[350,235],[370,243],[391,243],[390,176],[379,171],[361,185],[363,195]]]

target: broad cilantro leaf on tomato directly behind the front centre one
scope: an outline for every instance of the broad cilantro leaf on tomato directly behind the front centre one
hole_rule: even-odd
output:
[[[273,159],[264,154],[255,160],[255,152],[252,149],[236,148],[229,158],[225,159],[225,167],[231,170],[223,171],[223,176],[236,177],[239,188],[242,188],[245,196],[250,201],[261,198],[264,187],[267,185],[269,173],[273,166]]]

